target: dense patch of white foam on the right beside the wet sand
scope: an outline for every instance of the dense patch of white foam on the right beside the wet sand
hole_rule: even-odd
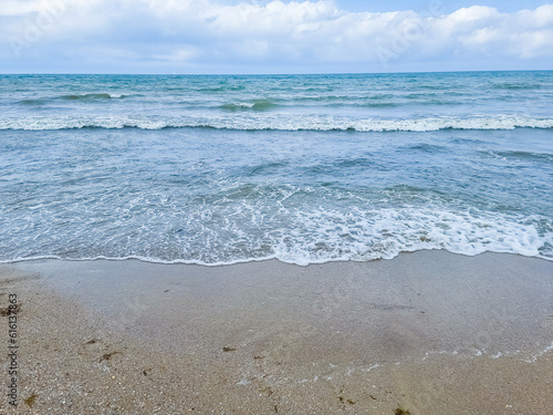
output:
[[[309,264],[328,260],[392,259],[406,251],[446,249],[474,256],[486,251],[541,257],[540,248],[553,235],[540,236],[534,225],[488,214],[419,209],[383,209],[352,214],[319,210],[294,220],[295,229],[275,240],[275,257],[284,262]],[[323,241],[323,242],[322,242]]]

